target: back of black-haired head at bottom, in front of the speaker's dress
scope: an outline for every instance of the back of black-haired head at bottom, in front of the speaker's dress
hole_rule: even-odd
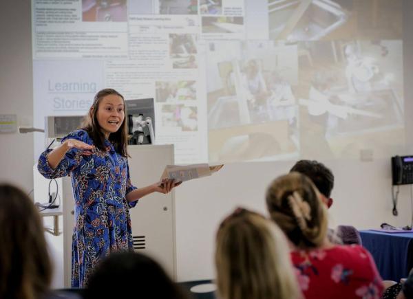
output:
[[[117,252],[100,262],[84,297],[129,298],[131,294],[133,298],[187,298],[156,261],[137,252]]]

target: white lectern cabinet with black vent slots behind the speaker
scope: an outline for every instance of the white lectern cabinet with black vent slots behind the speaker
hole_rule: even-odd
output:
[[[173,164],[173,145],[128,146],[129,173],[136,187],[153,184],[167,164]],[[70,177],[63,179],[64,280],[70,287],[74,199]],[[134,248],[158,261],[176,278],[176,234],[174,191],[152,193],[138,201],[131,214]]]

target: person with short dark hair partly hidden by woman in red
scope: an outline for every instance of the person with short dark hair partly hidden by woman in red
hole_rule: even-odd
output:
[[[321,200],[326,204],[327,208],[332,206],[334,202],[331,198],[331,191],[334,187],[334,175],[332,171],[321,162],[315,160],[299,160],[290,169],[290,173],[297,172],[306,175],[320,192]],[[339,225],[337,230],[328,231],[330,241],[333,243],[343,243],[347,245],[361,245],[361,236],[359,231],[352,225]]]

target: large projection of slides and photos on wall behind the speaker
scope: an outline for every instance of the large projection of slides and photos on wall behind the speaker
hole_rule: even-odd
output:
[[[34,126],[87,113],[111,87],[155,100],[156,144],[174,144],[177,164],[388,157],[405,144],[402,10],[402,0],[32,0]]]

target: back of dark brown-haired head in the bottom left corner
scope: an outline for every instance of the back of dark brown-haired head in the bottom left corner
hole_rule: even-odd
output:
[[[0,184],[0,298],[39,298],[52,266],[39,212],[25,193]]]

